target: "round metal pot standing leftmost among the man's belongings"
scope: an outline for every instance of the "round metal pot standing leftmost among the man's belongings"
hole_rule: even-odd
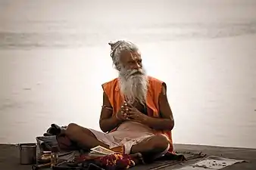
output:
[[[20,148],[20,164],[33,165],[36,163],[36,144],[18,144]]]

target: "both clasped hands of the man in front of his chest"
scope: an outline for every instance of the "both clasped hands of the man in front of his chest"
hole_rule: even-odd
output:
[[[135,122],[145,122],[148,118],[145,114],[141,113],[136,107],[127,104],[126,102],[123,103],[120,110],[117,112],[116,117],[120,121],[135,121]]]

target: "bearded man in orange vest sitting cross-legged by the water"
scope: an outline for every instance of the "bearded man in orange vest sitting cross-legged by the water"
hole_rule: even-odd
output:
[[[102,85],[99,124],[105,133],[71,123],[64,134],[85,149],[121,147],[123,153],[142,153],[150,158],[172,152],[174,121],[166,84],[146,76],[136,45],[125,41],[109,45],[119,77]]]

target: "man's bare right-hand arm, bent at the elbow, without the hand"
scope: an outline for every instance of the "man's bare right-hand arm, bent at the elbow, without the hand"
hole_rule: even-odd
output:
[[[167,100],[166,84],[163,83],[161,94],[159,95],[159,109],[161,118],[149,117],[145,124],[156,130],[172,130],[174,126],[173,113]]]

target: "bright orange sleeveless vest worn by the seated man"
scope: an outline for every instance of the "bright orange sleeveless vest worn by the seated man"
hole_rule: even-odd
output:
[[[159,94],[162,90],[162,83],[160,80],[155,79],[151,76],[148,76],[148,94],[146,98],[146,104],[148,108],[148,116],[152,117],[160,117],[158,98]],[[102,85],[105,94],[108,96],[108,100],[113,107],[113,116],[117,114],[118,110],[121,108],[121,104],[123,104],[123,95],[120,94],[120,86],[118,79],[113,79],[111,82],[106,82]],[[117,128],[114,128],[112,131],[115,131]],[[169,152],[173,152],[173,140],[171,131],[155,131],[155,134],[165,134],[170,141],[170,149]]]

